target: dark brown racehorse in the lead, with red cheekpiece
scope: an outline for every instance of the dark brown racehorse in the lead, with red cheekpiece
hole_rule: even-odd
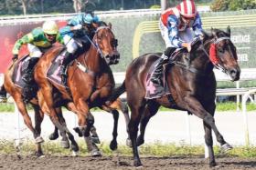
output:
[[[126,70],[123,85],[113,90],[110,102],[126,91],[127,103],[131,109],[129,133],[133,145],[133,165],[141,166],[137,146],[144,144],[144,130],[149,119],[156,114],[160,105],[187,111],[203,120],[205,142],[208,146],[209,165],[215,166],[211,130],[214,131],[222,149],[231,146],[220,135],[214,121],[216,78],[213,68],[216,66],[225,72],[232,81],[240,79],[240,66],[237,62],[236,47],[230,40],[230,28],[227,32],[211,29],[204,33],[201,41],[192,45],[192,51],[176,56],[172,66],[165,68],[165,80],[170,95],[155,99],[145,99],[145,81],[149,68],[161,54],[146,54],[134,59]],[[170,65],[170,64],[168,64]],[[137,137],[138,125],[140,135]]]

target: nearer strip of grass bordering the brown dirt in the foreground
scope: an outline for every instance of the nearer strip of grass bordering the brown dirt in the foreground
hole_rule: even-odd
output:
[[[80,155],[88,155],[87,148],[83,141],[79,142]],[[119,155],[132,156],[132,148],[126,145],[119,145],[117,151],[112,151],[109,144],[102,143],[99,145],[103,155]],[[63,149],[59,146],[59,141],[46,142],[42,145],[42,149],[46,155],[70,155],[69,149]],[[33,155],[35,152],[35,145],[32,142],[25,142],[21,145],[22,155]],[[217,156],[223,155],[220,152],[219,146],[214,146],[214,152]],[[12,142],[0,141],[0,154],[15,154],[16,149]],[[162,144],[155,143],[143,145],[140,147],[140,155],[143,156],[179,156],[179,155],[195,155],[204,156],[204,145],[175,145],[175,144]],[[235,146],[232,150],[225,154],[226,156],[239,156],[239,157],[256,157],[255,146]]]

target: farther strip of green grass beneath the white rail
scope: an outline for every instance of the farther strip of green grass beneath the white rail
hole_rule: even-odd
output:
[[[247,111],[256,111],[256,104],[253,103],[247,103]],[[31,106],[27,106],[28,110],[32,110]],[[240,105],[241,109],[241,105]],[[161,111],[170,111],[170,109],[161,107]],[[218,112],[224,112],[224,111],[236,111],[237,110],[237,104],[235,102],[225,102],[225,103],[218,103],[216,110]],[[64,110],[65,111],[65,110]],[[99,108],[93,108],[91,111],[101,111]],[[1,112],[15,112],[15,105],[10,103],[0,103],[0,113]]]

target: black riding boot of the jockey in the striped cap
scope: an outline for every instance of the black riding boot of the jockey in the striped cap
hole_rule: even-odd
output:
[[[168,62],[169,56],[176,50],[174,47],[168,47],[165,50],[165,53],[158,59],[158,63],[155,65],[155,71],[151,76],[150,80],[156,84],[161,85],[161,75],[163,73],[163,65]]]

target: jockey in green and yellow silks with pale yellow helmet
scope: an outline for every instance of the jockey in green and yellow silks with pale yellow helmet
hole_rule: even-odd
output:
[[[48,50],[56,41],[63,44],[63,40],[59,35],[58,25],[54,21],[46,21],[42,28],[37,27],[32,32],[24,35],[16,41],[13,48],[13,61],[17,59],[18,51],[21,45],[27,44],[29,51],[29,60],[25,75],[22,79],[25,83],[29,84],[33,80],[32,70],[34,65],[37,64],[38,59],[44,52]]]

